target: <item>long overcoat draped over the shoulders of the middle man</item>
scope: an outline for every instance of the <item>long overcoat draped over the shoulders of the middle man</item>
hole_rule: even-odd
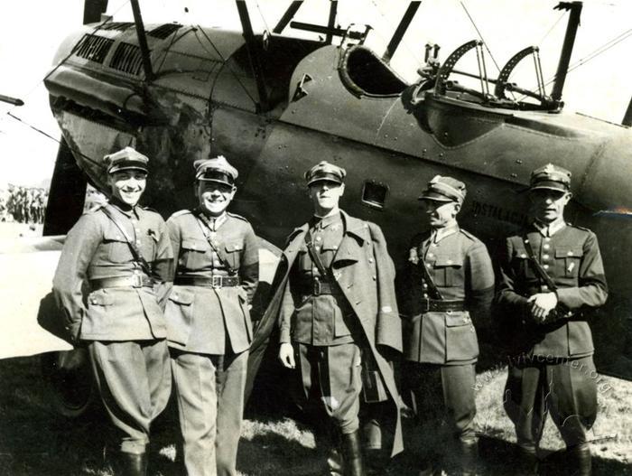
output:
[[[359,329],[364,333],[367,345],[376,360],[385,387],[390,394],[396,417],[396,433],[393,454],[403,449],[401,422],[397,402],[399,393],[395,387],[395,376],[385,356],[402,350],[402,328],[395,302],[395,266],[386,249],[382,230],[361,219],[349,217],[340,211],[345,232],[331,268],[344,298],[358,319]],[[288,238],[281,261],[274,276],[274,294],[257,327],[254,345],[258,348],[270,333],[270,326],[281,316],[293,313],[294,303],[289,293],[288,281],[294,260],[304,249],[304,237],[309,224],[294,229]],[[306,249],[305,249],[306,251]],[[282,311],[282,308],[283,309]],[[290,322],[287,317],[279,322],[280,341],[290,341]],[[364,340],[363,340],[364,341]],[[359,342],[358,342],[359,343]],[[361,345],[361,344],[360,344]]]

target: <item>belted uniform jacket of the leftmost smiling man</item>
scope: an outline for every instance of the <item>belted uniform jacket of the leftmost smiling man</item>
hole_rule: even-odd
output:
[[[151,287],[112,287],[84,294],[88,281],[143,274],[120,229],[107,218],[107,209],[134,237],[144,259],[152,264],[158,281],[172,279],[172,247],[163,218],[135,207],[123,211],[107,203],[79,218],[64,243],[52,290],[64,311],[72,340],[138,341],[164,338],[166,325],[159,300]]]

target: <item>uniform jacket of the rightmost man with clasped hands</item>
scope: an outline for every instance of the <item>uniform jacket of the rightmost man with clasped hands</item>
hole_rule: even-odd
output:
[[[529,316],[527,298],[549,290],[528,263],[525,239],[557,286],[562,309],[553,322],[538,324]],[[507,238],[500,265],[502,282],[497,299],[504,314],[504,331],[516,353],[548,358],[579,358],[593,353],[584,311],[605,303],[608,287],[597,237],[590,229],[564,225],[553,236],[544,237],[532,226]]]

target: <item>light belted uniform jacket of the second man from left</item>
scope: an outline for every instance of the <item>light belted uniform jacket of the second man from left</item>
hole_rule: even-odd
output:
[[[200,225],[206,227],[190,210],[176,212],[167,220],[176,257],[176,280],[180,276],[229,275]],[[224,354],[229,341],[233,352],[242,352],[252,341],[248,304],[259,280],[257,238],[246,219],[227,213],[212,239],[237,271],[241,285],[174,285],[165,309],[169,345],[191,352]]]

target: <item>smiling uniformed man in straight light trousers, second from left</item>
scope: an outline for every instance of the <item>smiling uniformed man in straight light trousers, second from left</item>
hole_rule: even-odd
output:
[[[177,267],[165,315],[181,450],[191,476],[234,476],[258,245],[247,220],[226,211],[237,169],[221,155],[195,167],[198,208],[167,220]]]

